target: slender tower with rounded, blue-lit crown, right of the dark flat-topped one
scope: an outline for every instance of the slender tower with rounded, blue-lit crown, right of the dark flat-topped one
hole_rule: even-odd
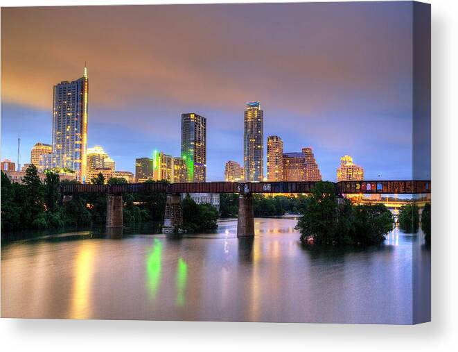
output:
[[[245,181],[264,181],[263,110],[259,101],[247,103],[243,133]]]

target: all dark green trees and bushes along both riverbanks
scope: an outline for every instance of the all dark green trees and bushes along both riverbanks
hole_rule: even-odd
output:
[[[165,181],[147,181],[150,183]],[[44,183],[37,169],[30,165],[23,183],[12,183],[1,172],[1,239],[8,233],[25,231],[57,231],[60,228],[103,228],[107,199],[105,194],[75,194],[63,199],[60,185],[76,181],[60,181],[53,171],[46,173]],[[102,174],[91,180],[103,184]],[[109,178],[109,184],[127,183],[124,178]],[[123,219],[126,227],[155,222],[163,224],[166,194],[123,194]],[[409,206],[406,206],[409,207]],[[416,207],[416,206],[413,206]],[[383,205],[361,205],[335,195],[333,183],[319,182],[312,194],[264,196],[254,194],[254,217],[297,215],[297,229],[303,244],[371,245],[380,244],[394,227],[394,217]],[[403,207],[404,208],[404,207]],[[215,231],[219,218],[236,218],[238,194],[220,194],[220,211],[210,204],[197,204],[189,194],[182,200],[185,233]],[[407,215],[419,212],[401,209],[400,227],[412,224]],[[401,216],[402,215],[402,216]],[[409,222],[410,221],[410,222]],[[159,225],[160,228],[161,225]],[[415,226],[412,226],[414,229]],[[421,228],[430,240],[430,206],[421,215]]]

